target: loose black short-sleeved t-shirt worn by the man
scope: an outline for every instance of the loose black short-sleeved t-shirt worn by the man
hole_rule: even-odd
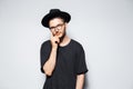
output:
[[[41,46],[41,71],[51,52],[50,40]],[[75,89],[76,76],[88,71],[82,46],[71,39],[70,43],[59,47],[57,63],[51,77],[47,77],[43,89]]]

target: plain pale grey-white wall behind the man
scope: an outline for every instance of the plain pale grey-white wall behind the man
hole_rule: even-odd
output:
[[[42,89],[41,26],[51,8],[72,16],[68,34],[83,44],[85,89],[133,89],[133,0],[0,0],[0,89]]]

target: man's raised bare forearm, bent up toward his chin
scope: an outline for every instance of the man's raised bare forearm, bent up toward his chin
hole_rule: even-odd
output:
[[[47,76],[51,76],[55,67],[57,49],[52,49],[48,61],[43,66],[43,70]]]

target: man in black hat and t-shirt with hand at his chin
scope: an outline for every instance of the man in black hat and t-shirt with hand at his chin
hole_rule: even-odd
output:
[[[41,46],[41,71],[47,80],[43,89],[83,89],[88,71],[82,46],[66,36],[71,16],[60,9],[51,9],[41,21],[49,28],[51,38]]]

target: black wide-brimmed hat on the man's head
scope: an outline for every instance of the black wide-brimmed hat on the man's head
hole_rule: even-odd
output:
[[[71,20],[71,16],[68,12],[61,11],[60,9],[51,9],[48,14],[45,14],[41,21],[42,26],[49,28],[49,21],[53,18],[60,17],[65,22]]]

